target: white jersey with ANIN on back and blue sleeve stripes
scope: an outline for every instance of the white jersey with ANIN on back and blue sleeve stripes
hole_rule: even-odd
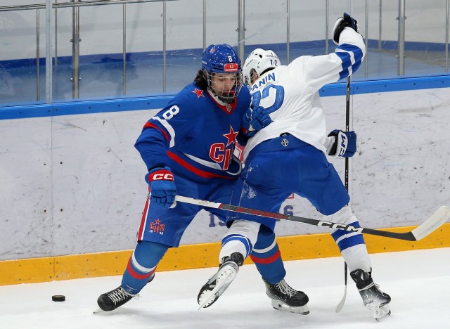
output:
[[[351,75],[361,65],[365,53],[361,34],[345,27],[334,53],[301,56],[259,77],[250,86],[252,107],[265,108],[273,122],[250,138],[244,160],[259,143],[283,133],[326,152],[327,131],[319,89]]]

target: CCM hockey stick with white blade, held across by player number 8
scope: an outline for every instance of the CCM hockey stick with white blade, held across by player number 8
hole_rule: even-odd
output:
[[[290,216],[285,214],[278,214],[276,212],[266,212],[264,210],[250,209],[244,207],[238,207],[233,205],[226,205],[224,203],[219,202],[211,202],[206,200],[188,198],[181,195],[176,195],[176,201],[190,203],[191,205],[200,205],[203,207],[216,208],[229,210],[231,212],[240,212],[241,214],[251,214],[260,217],[269,217],[273,219],[285,219],[287,221],[297,221],[299,223],[314,225],[314,226],[323,226],[328,228],[335,228],[343,231],[357,232],[370,234],[372,236],[384,236],[385,238],[393,238],[398,240],[406,240],[406,241],[417,241],[425,238],[430,233],[434,232],[444,224],[446,221],[450,219],[450,208],[446,206],[441,206],[437,211],[431,215],[423,224],[420,224],[417,228],[414,228],[412,231],[405,233],[397,233],[397,232],[388,232],[382,230],[376,230],[373,228],[364,228],[364,227],[356,227],[352,225],[345,225],[339,223],[333,223],[331,221],[319,221],[319,219],[311,219],[306,217],[298,217],[298,216]]]

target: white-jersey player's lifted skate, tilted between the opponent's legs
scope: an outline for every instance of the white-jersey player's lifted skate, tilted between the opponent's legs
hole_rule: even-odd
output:
[[[244,257],[239,252],[233,252],[231,257],[226,257],[219,266],[219,271],[212,276],[198,293],[198,309],[210,307],[224,293],[226,288],[233,282],[242,266]]]

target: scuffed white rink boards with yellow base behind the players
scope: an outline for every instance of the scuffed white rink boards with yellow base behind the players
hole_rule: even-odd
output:
[[[442,86],[447,83],[443,78]],[[367,84],[353,88],[361,92]],[[394,84],[352,97],[359,152],[351,160],[349,187],[361,225],[408,231],[404,227],[450,204],[450,93],[435,84],[390,91]],[[322,98],[328,129],[344,129],[345,96],[333,88]],[[37,112],[1,110],[0,285],[122,273],[147,189],[146,168],[133,145],[165,101],[130,110],[108,101],[100,107],[80,102],[75,110],[63,104],[40,105]],[[333,164],[343,174],[343,161]],[[319,218],[297,196],[280,212]],[[448,247],[446,229],[414,244],[366,239],[371,252]],[[338,255],[327,232],[284,221],[276,226],[285,260]],[[183,246],[170,250],[159,270],[217,265],[224,233],[217,218],[200,212]]]

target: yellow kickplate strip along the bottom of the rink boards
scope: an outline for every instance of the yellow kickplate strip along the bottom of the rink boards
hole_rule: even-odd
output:
[[[386,231],[407,232],[417,226],[387,228]],[[379,236],[364,236],[369,253],[450,247],[450,224],[444,224],[420,241],[403,241]],[[277,238],[283,260],[314,259],[340,256],[338,246],[329,233]],[[182,245],[170,248],[158,264],[157,271],[199,269],[219,265],[221,243]],[[70,254],[67,256],[14,259],[0,262],[0,285],[37,283],[96,276],[121,276],[131,250]],[[251,264],[250,257],[244,264]]]

